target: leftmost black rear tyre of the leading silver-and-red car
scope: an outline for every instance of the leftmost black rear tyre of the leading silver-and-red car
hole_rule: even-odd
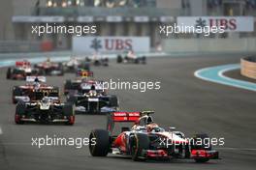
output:
[[[105,129],[94,129],[89,136],[91,156],[107,156],[110,151],[110,135]]]

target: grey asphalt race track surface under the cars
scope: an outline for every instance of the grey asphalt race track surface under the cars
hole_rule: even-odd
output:
[[[116,65],[93,68],[102,78],[161,81],[159,91],[114,91],[122,110],[155,110],[155,122],[163,127],[176,127],[187,136],[207,132],[225,137],[218,147],[221,160],[195,163],[194,160],[134,162],[129,157],[92,157],[88,147],[31,146],[32,137],[88,137],[92,128],[105,128],[105,116],[77,115],[73,127],[61,125],[21,125],[14,122],[15,105],[11,89],[21,81],[6,80],[6,69],[0,69],[0,170],[200,170],[255,169],[256,166],[256,94],[238,88],[210,83],[194,77],[202,68],[239,63],[239,55],[150,58],[148,64]],[[63,85],[67,77],[48,77],[48,84]],[[0,132],[1,132],[0,131]]]

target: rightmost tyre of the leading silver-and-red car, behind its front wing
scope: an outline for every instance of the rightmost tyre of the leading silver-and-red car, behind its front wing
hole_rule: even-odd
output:
[[[205,143],[206,139],[208,139],[207,141],[209,142],[209,137],[208,134],[203,133],[203,134],[196,134],[194,137],[194,140],[196,141],[196,143],[194,145],[191,145],[191,150],[196,149],[196,150],[207,150],[210,151],[211,150],[211,144],[210,142],[208,144]],[[201,145],[197,144],[197,143],[201,143],[201,142],[197,142],[197,141],[204,141],[202,142]],[[195,158],[195,161],[198,163],[203,163],[203,162],[207,162],[209,159],[208,158]]]

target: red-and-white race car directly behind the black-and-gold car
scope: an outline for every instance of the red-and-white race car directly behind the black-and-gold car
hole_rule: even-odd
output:
[[[48,86],[45,76],[27,76],[27,83],[13,88],[13,103],[42,99],[45,96],[59,100],[59,88]]]

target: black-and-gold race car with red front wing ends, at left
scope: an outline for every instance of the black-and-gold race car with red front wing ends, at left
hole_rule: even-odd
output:
[[[41,100],[23,102],[16,105],[16,124],[25,122],[65,123],[74,125],[75,113],[70,103],[59,103],[44,97]]]

